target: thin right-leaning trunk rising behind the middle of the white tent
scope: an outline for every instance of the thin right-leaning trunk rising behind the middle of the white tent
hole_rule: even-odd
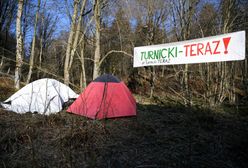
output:
[[[30,60],[29,60],[29,71],[28,71],[28,76],[27,76],[26,84],[28,84],[30,82],[32,71],[33,71],[33,66],[34,66],[36,29],[37,29],[37,22],[38,22],[39,10],[40,10],[40,0],[38,0],[38,8],[37,8],[37,11],[36,11],[36,16],[35,16],[34,34],[33,34],[33,40],[32,40],[32,49],[31,49],[31,56],[30,56]]]

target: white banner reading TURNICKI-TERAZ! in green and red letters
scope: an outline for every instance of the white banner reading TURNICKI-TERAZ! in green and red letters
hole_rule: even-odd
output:
[[[245,59],[245,31],[134,48],[134,67]]]

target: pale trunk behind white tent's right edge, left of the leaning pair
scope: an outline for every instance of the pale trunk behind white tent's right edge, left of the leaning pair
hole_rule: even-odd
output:
[[[69,63],[71,59],[72,41],[75,34],[75,23],[78,14],[78,4],[79,4],[79,0],[74,0],[74,12],[72,16],[71,30],[68,38],[66,56],[65,56],[65,65],[64,65],[64,83],[66,85],[69,85],[70,83]]]

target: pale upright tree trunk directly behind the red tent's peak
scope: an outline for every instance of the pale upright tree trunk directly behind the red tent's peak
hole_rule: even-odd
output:
[[[94,18],[95,18],[95,24],[96,24],[96,35],[95,35],[95,55],[94,55],[94,69],[93,69],[93,79],[97,78],[100,73],[100,0],[95,0],[94,4]]]

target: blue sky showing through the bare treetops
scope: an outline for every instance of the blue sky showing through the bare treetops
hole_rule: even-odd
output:
[[[139,9],[137,6],[134,5],[134,1],[132,0],[117,0],[113,1],[114,3],[109,4],[111,11],[105,15],[105,20],[108,21],[108,23],[111,25],[111,23],[114,21],[114,15],[117,12],[119,8],[126,8],[125,14],[129,18],[130,25],[132,29],[135,29],[135,26],[137,24],[136,18],[133,17],[132,12],[135,12],[135,9]],[[219,0],[202,0],[202,3],[209,2],[218,4]],[[38,0],[32,0],[31,1],[33,7],[29,9],[29,15],[31,15],[34,22],[34,15],[37,10],[37,3]],[[70,13],[73,13],[73,0],[41,0],[41,8],[45,8],[46,13],[50,13],[54,18],[58,17],[58,20],[56,22],[55,32],[54,32],[54,38],[57,38],[60,36],[61,32],[68,32],[70,30],[70,20],[68,17],[67,11],[69,10]],[[33,36],[33,24],[29,27],[27,31],[26,36],[26,44],[30,44],[32,41]],[[15,29],[15,24],[13,24],[13,29]],[[14,31],[13,31],[14,33]]]

